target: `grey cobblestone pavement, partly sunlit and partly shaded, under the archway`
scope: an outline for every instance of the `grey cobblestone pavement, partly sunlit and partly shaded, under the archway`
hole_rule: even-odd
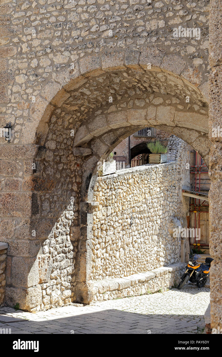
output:
[[[205,333],[204,313],[210,289],[191,284],[88,306],[52,308],[35,314],[0,308],[0,329],[14,334],[42,333]]]

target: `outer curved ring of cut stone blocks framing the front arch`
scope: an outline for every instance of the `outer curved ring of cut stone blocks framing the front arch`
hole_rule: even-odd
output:
[[[148,64],[151,69],[148,69]],[[166,73],[169,78],[180,82],[181,86],[189,85],[191,90],[202,96],[202,101],[207,102],[207,82],[195,68],[189,67],[182,56],[166,54],[157,46],[145,48],[143,51],[113,51],[102,52],[84,57],[72,65],[53,74],[53,80],[42,88],[41,94],[36,97],[31,105],[32,125],[22,135],[22,140],[35,142],[42,145],[47,135],[47,122],[50,120],[55,107],[60,107],[70,96],[69,91],[78,89],[90,77],[95,77],[105,72],[124,71],[127,68],[135,71],[154,71]]]

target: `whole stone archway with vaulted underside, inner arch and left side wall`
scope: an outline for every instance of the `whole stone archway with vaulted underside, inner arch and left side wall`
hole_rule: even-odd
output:
[[[167,70],[147,70],[151,58],[144,56],[129,51],[80,60],[72,70],[61,71],[57,82],[49,81],[32,105],[35,123],[23,132],[23,141],[36,144],[24,145],[23,151],[20,147],[19,154],[29,147],[29,162],[35,164],[23,183],[29,192],[29,218],[19,222],[20,230],[26,225],[30,253],[23,258],[20,246],[21,278],[12,270],[6,288],[9,305],[17,296],[27,310],[91,301],[91,203],[97,163],[125,137],[155,126],[184,139],[207,161],[207,102],[201,91],[170,72],[170,65]],[[180,61],[177,56],[175,60]],[[180,73],[183,70],[180,67]],[[30,239],[33,230],[35,240]]]

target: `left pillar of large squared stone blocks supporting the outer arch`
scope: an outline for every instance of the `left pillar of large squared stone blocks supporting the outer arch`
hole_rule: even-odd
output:
[[[0,240],[8,243],[6,303],[31,310],[40,304],[37,255],[46,223],[40,219],[40,180],[37,145],[0,146]],[[34,169],[33,169],[34,167]],[[39,182],[39,180],[41,182]],[[46,189],[46,188],[45,188]],[[44,222],[43,222],[44,221]]]

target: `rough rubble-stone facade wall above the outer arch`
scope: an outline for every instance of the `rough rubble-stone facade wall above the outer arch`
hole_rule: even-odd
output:
[[[37,0],[8,1],[1,5],[1,112],[13,125],[12,142],[29,142],[35,110],[48,98],[41,89],[57,82],[62,68],[101,51],[144,51],[157,45],[159,66],[180,74],[208,95],[208,0]],[[200,27],[201,38],[172,36],[173,27]],[[178,56],[179,55],[179,56]],[[185,62],[187,66],[185,68]],[[74,64],[74,67],[72,67]],[[147,65],[147,63],[146,63]],[[206,79],[206,80],[205,80]],[[56,85],[51,83],[56,94]],[[36,105],[35,105],[36,103]],[[36,106],[36,108],[35,108]],[[31,107],[33,109],[31,110]]]

